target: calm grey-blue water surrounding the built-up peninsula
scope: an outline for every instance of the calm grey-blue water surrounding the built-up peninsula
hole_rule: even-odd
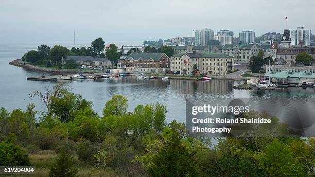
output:
[[[32,72],[8,63],[21,58],[25,52],[37,49],[43,42],[0,42],[0,107],[7,110],[21,108],[25,110],[28,103],[36,104],[36,109],[44,111],[39,99],[31,99],[28,94],[34,90],[43,91],[45,86],[56,82],[27,81],[26,77],[47,75]],[[118,45],[119,42],[117,42]],[[72,42],[48,42],[50,46],[61,44],[71,48]],[[77,47],[89,46],[91,42],[77,42]],[[131,43],[120,42],[119,45]],[[136,42],[133,42],[136,44]],[[234,90],[233,85],[241,81],[212,80],[138,80],[135,77],[75,80],[67,81],[73,92],[81,94],[84,99],[93,101],[93,109],[101,115],[104,105],[112,96],[120,94],[128,98],[128,111],[138,104],[160,102],[167,105],[167,121],[177,119],[185,121],[186,98],[314,98],[313,88],[285,88],[283,91]]]

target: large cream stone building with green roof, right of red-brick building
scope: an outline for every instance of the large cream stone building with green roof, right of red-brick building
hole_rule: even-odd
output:
[[[225,76],[233,72],[233,58],[220,53],[180,53],[171,56],[171,70],[191,75],[194,65],[200,74]]]

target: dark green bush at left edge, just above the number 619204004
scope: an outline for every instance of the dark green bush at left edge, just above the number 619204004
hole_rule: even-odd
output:
[[[22,148],[8,141],[0,143],[0,166],[26,165],[29,165],[29,159]]]

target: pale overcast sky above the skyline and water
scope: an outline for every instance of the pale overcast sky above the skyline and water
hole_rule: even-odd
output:
[[[231,29],[256,36],[304,26],[315,30],[315,1],[120,0],[5,1],[0,41],[142,41],[191,36],[193,29]]]

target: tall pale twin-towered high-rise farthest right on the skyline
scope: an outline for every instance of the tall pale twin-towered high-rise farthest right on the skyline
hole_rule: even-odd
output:
[[[290,30],[291,45],[300,45],[302,42],[304,45],[310,45],[310,29],[304,29],[304,27],[298,27]]]

